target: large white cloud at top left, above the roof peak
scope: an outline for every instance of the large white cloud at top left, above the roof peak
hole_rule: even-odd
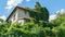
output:
[[[22,3],[23,0],[8,0],[5,9],[12,9],[16,7],[18,3]]]

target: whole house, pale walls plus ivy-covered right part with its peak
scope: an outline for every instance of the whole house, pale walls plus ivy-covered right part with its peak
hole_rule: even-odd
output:
[[[41,7],[39,2],[36,3],[35,9],[25,9],[21,7],[16,7],[12,13],[9,15],[6,21],[18,22],[24,24],[27,23],[27,18],[32,17],[35,18],[36,23],[39,23],[39,21],[49,21],[49,11],[47,8]]]

